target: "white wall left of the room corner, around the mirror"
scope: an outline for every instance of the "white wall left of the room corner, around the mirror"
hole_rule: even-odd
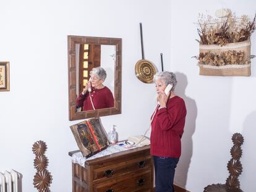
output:
[[[0,171],[23,174],[23,192],[33,189],[32,145],[48,145],[51,190],[72,191],[69,151],[77,145],[69,126],[67,35],[122,38],[122,114],[103,117],[119,138],[143,134],[154,110],[154,86],[134,74],[141,59],[139,22],[146,59],[160,63],[170,52],[166,1],[0,1],[0,61],[9,61],[11,91],[0,93]],[[167,6],[166,6],[167,5]],[[78,19],[80,18],[80,19]],[[164,28],[161,30],[160,28]],[[168,28],[168,27],[167,27]],[[143,114],[143,115],[142,115]]]

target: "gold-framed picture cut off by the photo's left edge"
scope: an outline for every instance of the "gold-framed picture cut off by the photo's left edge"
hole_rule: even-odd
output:
[[[9,62],[0,62],[0,91],[10,91]]]

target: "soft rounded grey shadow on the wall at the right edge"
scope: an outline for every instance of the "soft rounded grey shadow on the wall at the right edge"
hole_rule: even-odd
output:
[[[255,135],[256,135],[256,111],[250,113],[243,123],[242,136],[244,144],[242,145],[242,174],[239,177],[241,190],[256,191],[255,173],[256,173],[256,155],[255,155]]]

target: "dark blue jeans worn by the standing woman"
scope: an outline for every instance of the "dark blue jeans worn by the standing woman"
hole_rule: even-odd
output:
[[[153,156],[155,166],[155,192],[174,192],[173,180],[179,158]]]

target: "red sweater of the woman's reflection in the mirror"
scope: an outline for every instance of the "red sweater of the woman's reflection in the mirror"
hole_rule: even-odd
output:
[[[114,107],[113,94],[106,86],[100,90],[92,88],[91,97],[95,109]],[[82,111],[93,110],[88,91],[85,94],[79,94],[79,97],[77,98],[77,107],[82,107]]]

